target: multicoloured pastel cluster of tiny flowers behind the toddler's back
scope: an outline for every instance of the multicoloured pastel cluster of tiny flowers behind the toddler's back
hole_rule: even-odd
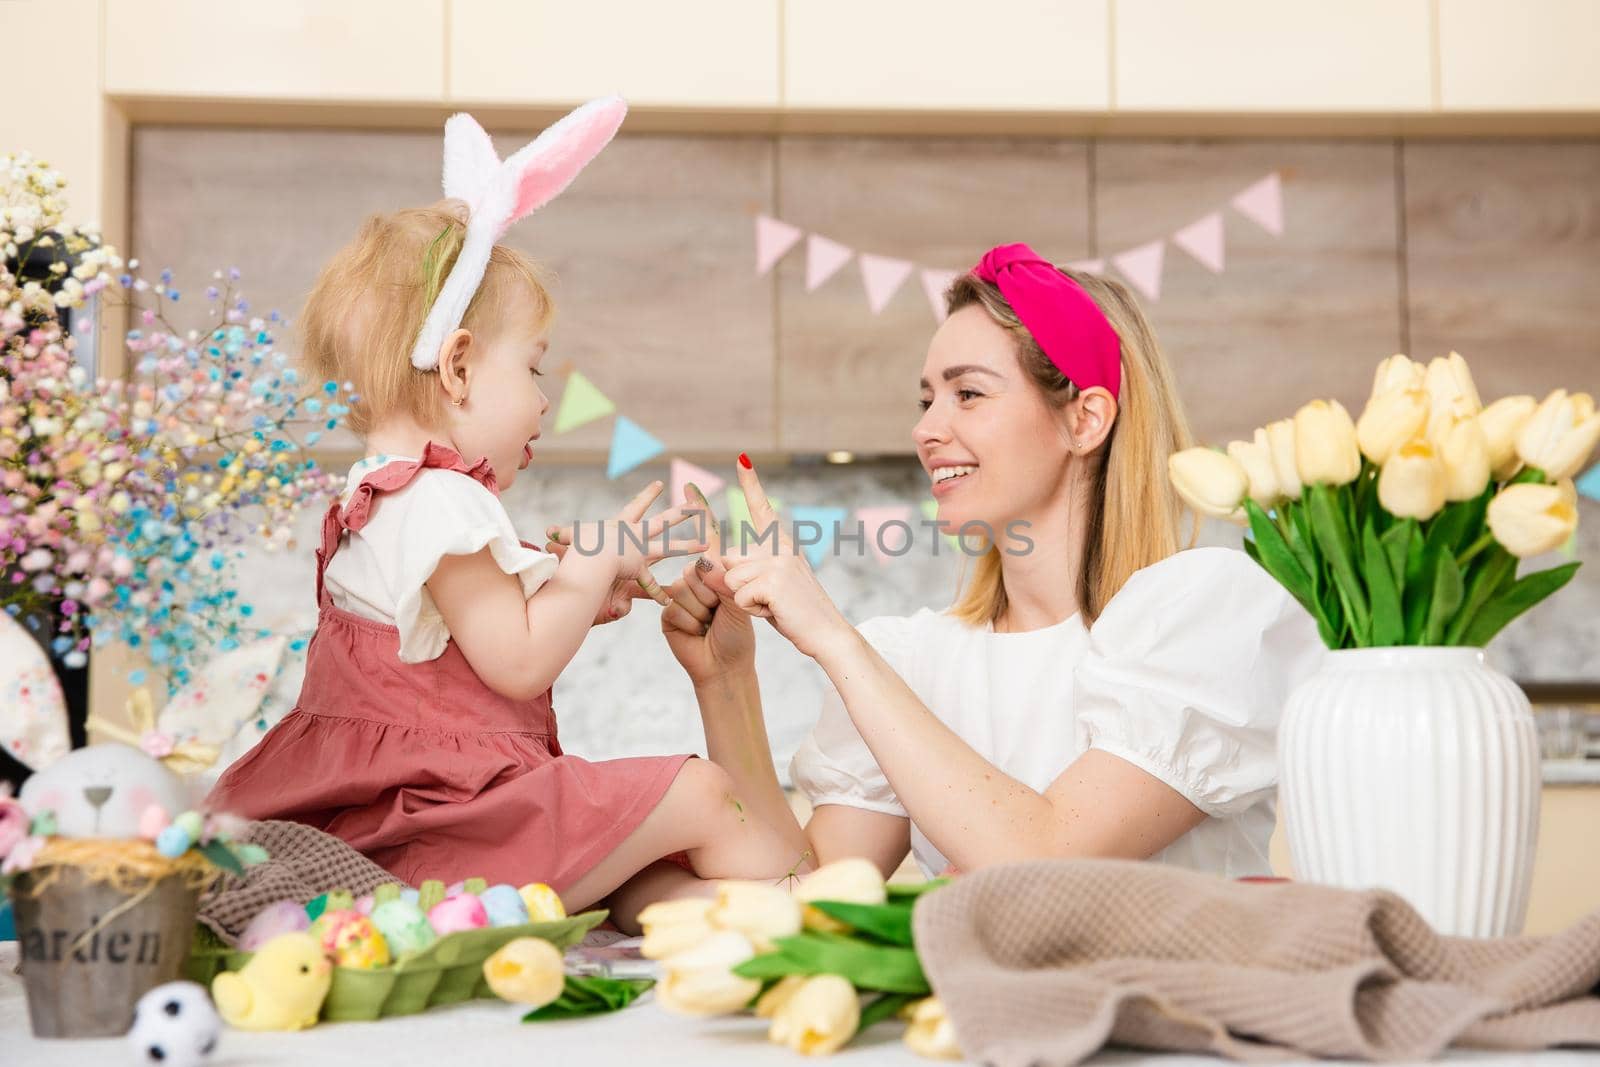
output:
[[[288,544],[299,509],[336,490],[306,450],[354,397],[299,381],[238,270],[216,272],[200,325],[176,325],[171,272],[146,280],[67,224],[64,187],[0,155],[0,603],[50,617],[69,669],[122,641],[179,686],[264,635],[232,582],[240,549]],[[126,309],[126,381],[78,362],[67,314],[91,301]]]

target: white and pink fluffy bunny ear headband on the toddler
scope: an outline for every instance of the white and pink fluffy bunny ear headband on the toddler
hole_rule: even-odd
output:
[[[411,366],[422,371],[438,366],[438,349],[467,314],[494,243],[512,222],[560,195],[611,141],[624,115],[627,104],[619,96],[590,101],[506,162],[494,154],[490,134],[472,115],[450,117],[445,123],[445,195],[467,203],[467,237],[422,322]]]

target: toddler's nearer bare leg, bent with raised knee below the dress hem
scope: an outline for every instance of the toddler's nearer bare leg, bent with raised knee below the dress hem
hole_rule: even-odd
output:
[[[690,760],[656,809],[594,870],[562,894],[582,910],[662,856],[688,853],[701,878],[771,878],[811,870],[811,857],[739,800],[733,779],[709,760]]]

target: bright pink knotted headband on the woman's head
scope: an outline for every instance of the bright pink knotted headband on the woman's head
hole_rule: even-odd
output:
[[[998,245],[973,274],[1000,290],[1050,362],[1078,389],[1122,389],[1122,342],[1083,286],[1027,245]],[[1118,397],[1120,398],[1120,397]]]

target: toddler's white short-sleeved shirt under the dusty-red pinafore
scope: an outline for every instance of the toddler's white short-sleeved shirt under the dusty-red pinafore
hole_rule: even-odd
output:
[[[362,478],[403,456],[370,456],[354,467],[341,501],[349,502]],[[507,574],[522,581],[523,598],[555,574],[558,560],[523,547],[499,498],[477,478],[429,467],[402,490],[378,493],[360,531],[347,533],[323,574],[336,608],[400,630],[400,662],[437,659],[450,629],[434,606],[427,579],[446,555],[472,555],[488,547]]]

